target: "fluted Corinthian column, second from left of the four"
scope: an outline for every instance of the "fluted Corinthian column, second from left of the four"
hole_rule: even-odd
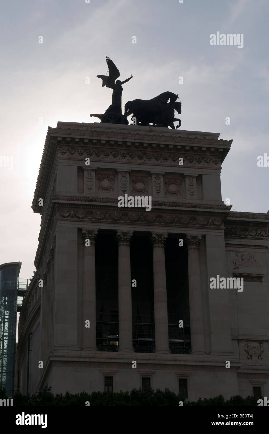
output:
[[[117,230],[119,245],[119,351],[133,351],[130,240],[133,230]]]

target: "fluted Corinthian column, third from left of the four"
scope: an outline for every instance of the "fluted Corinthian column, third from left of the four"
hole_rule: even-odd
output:
[[[168,314],[165,275],[165,241],[168,233],[152,232],[155,352],[169,353]]]

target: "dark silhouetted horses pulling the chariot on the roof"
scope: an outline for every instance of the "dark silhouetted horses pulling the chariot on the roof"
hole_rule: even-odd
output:
[[[178,95],[172,92],[163,92],[152,99],[134,99],[126,102],[123,116],[126,118],[133,114],[137,125],[152,123],[158,127],[170,126],[175,129],[175,121],[178,121],[176,128],[181,125],[181,120],[174,115],[175,110],[181,114],[181,102],[176,102],[177,99]]]

